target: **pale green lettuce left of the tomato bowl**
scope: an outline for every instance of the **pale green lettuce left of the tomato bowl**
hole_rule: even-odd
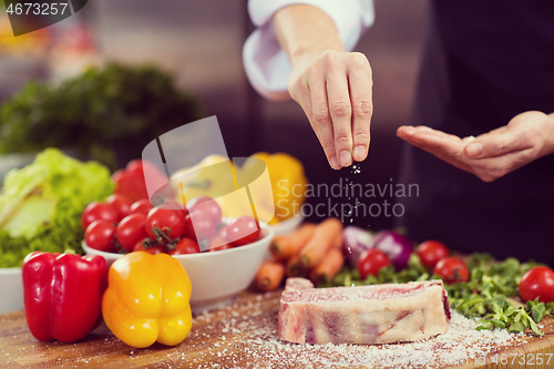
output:
[[[4,178],[0,193],[0,267],[21,266],[34,250],[82,252],[81,213],[113,192],[109,170],[48,148]]]

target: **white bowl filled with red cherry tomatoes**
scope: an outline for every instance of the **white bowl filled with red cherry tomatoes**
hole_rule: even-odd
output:
[[[191,278],[193,311],[215,308],[250,285],[275,232],[266,226],[261,228],[261,234],[263,238],[245,246],[213,253],[173,256],[183,265]],[[84,242],[83,249],[86,254],[103,256],[109,265],[123,257],[122,254],[90,248]]]

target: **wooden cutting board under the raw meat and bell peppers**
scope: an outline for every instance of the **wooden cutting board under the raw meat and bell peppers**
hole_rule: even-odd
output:
[[[418,356],[424,359],[430,353],[425,350],[433,345],[433,340],[439,339],[419,344],[338,347],[283,342],[277,338],[279,296],[280,291],[244,291],[220,309],[195,315],[193,330],[181,345],[165,347],[155,344],[147,349],[126,346],[105,326],[76,344],[39,342],[29,332],[23,311],[0,315],[0,367],[368,368],[370,361],[363,360],[372,360],[383,352],[404,352],[403,359],[397,357],[400,361],[396,365],[391,363],[393,361],[377,361],[376,367],[420,368],[424,367],[424,362],[418,361]],[[433,368],[554,368],[554,319],[545,318],[542,325],[546,334],[542,338],[523,337],[507,346],[482,345],[486,356],[476,355],[465,359],[463,356],[455,357],[456,352],[463,352],[463,348],[458,347],[455,336],[451,336],[454,337],[452,342],[445,345],[449,339],[443,339],[439,351],[433,353],[431,350],[434,355]],[[475,339],[476,344],[470,346],[481,347],[480,338]],[[480,350],[476,349],[478,352]],[[451,355],[447,358],[448,352]],[[443,358],[448,360],[441,363],[439,360]],[[542,365],[537,365],[538,361]]]

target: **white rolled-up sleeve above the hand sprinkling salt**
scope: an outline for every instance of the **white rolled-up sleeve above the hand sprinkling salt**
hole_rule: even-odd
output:
[[[275,35],[273,16],[294,3],[318,7],[329,14],[347,51],[356,47],[375,19],[372,0],[249,0],[248,13],[256,30],[244,44],[243,63],[248,81],[266,99],[290,99],[290,62]]]

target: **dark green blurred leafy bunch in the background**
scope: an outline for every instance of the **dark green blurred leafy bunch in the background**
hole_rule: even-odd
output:
[[[154,137],[198,120],[198,101],[154,66],[115,63],[60,85],[29,82],[0,112],[0,153],[72,147],[111,170]]]

